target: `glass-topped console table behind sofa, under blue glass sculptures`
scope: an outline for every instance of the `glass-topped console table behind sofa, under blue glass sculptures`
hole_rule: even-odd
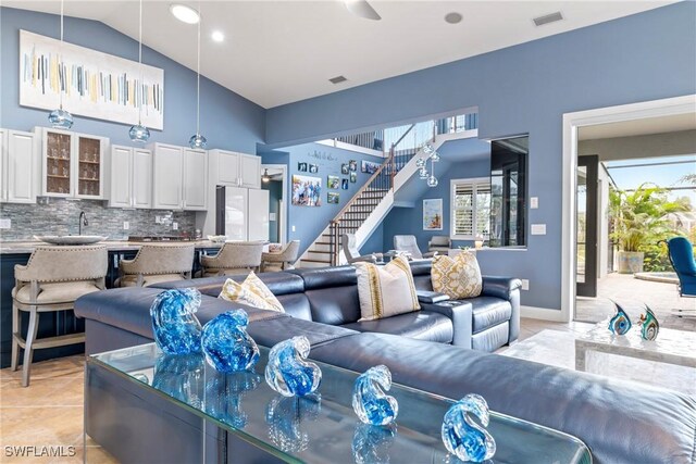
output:
[[[138,394],[154,394],[195,414],[203,419],[203,428],[216,426],[268,453],[269,459],[289,463],[459,462],[440,439],[443,417],[453,401],[394,384],[389,394],[399,402],[396,425],[364,425],[351,406],[358,373],[316,363],[323,374],[319,394],[285,398],[265,384],[269,349],[260,349],[254,372],[241,374],[221,374],[200,354],[165,355],[154,343],[87,356],[85,414],[105,404],[87,404],[92,398],[87,394],[90,388],[104,388],[95,378],[111,376]],[[127,407],[133,405],[123,405]],[[495,463],[592,463],[581,440],[547,427],[492,412],[487,430],[497,443]],[[228,454],[227,450],[221,453]],[[87,453],[86,462],[90,462]]]

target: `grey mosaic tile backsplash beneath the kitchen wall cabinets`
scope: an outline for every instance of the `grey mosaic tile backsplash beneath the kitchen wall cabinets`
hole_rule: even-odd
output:
[[[1,229],[2,240],[32,240],[35,235],[76,235],[80,211],[87,215],[89,225],[83,227],[85,235],[104,235],[111,240],[129,235],[181,235],[194,234],[196,212],[166,210],[123,210],[107,208],[105,201],[65,200],[39,197],[36,204],[0,205],[0,217],[12,221],[11,228]],[[156,223],[156,217],[162,220]],[[129,228],[123,229],[128,222]],[[174,230],[173,223],[178,223]]]

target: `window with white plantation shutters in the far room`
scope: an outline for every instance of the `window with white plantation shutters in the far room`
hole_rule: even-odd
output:
[[[490,218],[490,180],[488,178],[452,179],[450,204],[452,205],[451,238],[457,240],[488,238]]]

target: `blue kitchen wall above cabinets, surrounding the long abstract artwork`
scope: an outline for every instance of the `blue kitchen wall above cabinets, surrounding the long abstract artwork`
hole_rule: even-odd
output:
[[[48,111],[20,106],[20,29],[60,38],[60,17],[1,8],[0,29],[0,127],[30,130],[48,126]],[[64,37],[66,42],[138,60],[137,41],[96,21],[66,17]],[[147,47],[142,48],[142,61],[164,70],[164,130],[151,130],[150,140],[188,145],[196,131],[196,73]],[[209,148],[256,153],[257,142],[264,137],[264,109],[203,77],[200,100],[200,127]],[[132,143],[130,125],[74,117],[75,131],[109,137],[114,143]]]

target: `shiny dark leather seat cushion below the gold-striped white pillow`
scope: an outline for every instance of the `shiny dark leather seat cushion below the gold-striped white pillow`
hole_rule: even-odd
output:
[[[417,311],[376,321],[360,321],[341,327],[358,331],[400,335],[440,343],[451,343],[453,337],[451,319],[432,311]]]

